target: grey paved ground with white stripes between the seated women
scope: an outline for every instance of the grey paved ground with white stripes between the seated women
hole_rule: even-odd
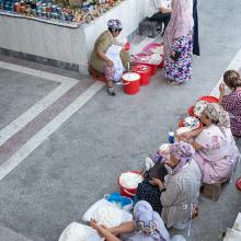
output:
[[[199,1],[202,57],[195,57],[193,81],[183,87],[167,85],[160,71],[138,95],[118,88],[110,97],[88,77],[0,56],[62,77],[14,72],[0,62],[0,127],[11,127],[0,130],[0,240],[55,241],[91,204],[117,191],[116,176],[139,169],[167,141],[168,130],[211,91],[239,51],[240,8],[240,0]],[[241,210],[240,197],[233,183],[218,203],[200,197],[191,239],[219,240],[219,229],[232,226]]]

